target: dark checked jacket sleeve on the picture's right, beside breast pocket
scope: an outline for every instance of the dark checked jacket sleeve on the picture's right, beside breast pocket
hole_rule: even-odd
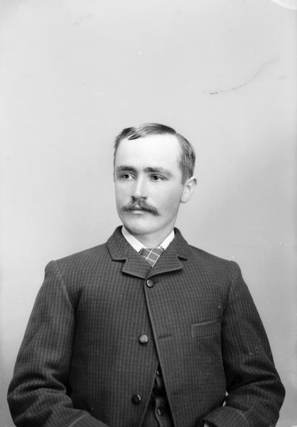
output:
[[[230,287],[222,318],[222,357],[227,396],[204,421],[217,427],[274,427],[284,386],[264,326],[239,266],[229,262]]]

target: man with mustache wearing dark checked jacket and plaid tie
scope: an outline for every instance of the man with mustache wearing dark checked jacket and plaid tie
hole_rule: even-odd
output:
[[[174,228],[194,164],[171,127],[117,137],[124,226],[47,265],[9,386],[16,426],[275,425],[284,387],[239,267]]]

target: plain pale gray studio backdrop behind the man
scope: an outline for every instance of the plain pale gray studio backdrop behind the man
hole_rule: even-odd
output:
[[[45,264],[119,225],[113,140],[151,121],[195,146],[177,226],[242,267],[297,424],[296,1],[2,0],[0,92],[0,425]]]

